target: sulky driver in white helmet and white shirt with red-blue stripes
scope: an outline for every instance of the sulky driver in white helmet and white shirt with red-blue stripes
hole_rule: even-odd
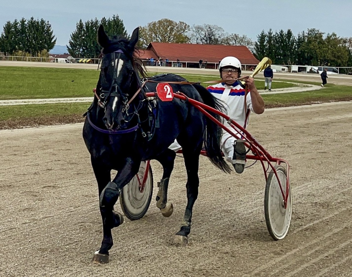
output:
[[[235,57],[225,57],[219,64],[220,77],[224,82],[211,85],[207,90],[216,98],[221,99],[227,105],[227,115],[235,122],[246,128],[249,122],[249,114],[253,111],[255,114],[264,112],[264,100],[259,95],[254,79],[249,77],[245,79],[249,93],[246,96],[245,105],[245,86],[236,79],[241,76],[241,62]],[[225,125],[233,131],[238,137],[233,137],[225,130],[221,137],[221,150],[228,162],[231,162],[237,173],[242,173],[245,166],[246,148],[243,141],[236,142],[241,139],[238,134],[226,122]],[[180,144],[175,140],[169,147],[174,151],[181,149]]]

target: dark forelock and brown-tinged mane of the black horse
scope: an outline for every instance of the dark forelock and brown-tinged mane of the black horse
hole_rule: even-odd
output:
[[[117,50],[122,50],[124,54],[132,61],[133,69],[137,71],[142,78],[145,78],[147,77],[147,73],[145,71],[142,59],[139,58],[139,52],[142,49],[139,46],[134,46],[134,49],[131,49],[129,42],[130,40],[122,36],[112,36],[109,39],[109,46],[102,48],[101,53],[108,54]]]

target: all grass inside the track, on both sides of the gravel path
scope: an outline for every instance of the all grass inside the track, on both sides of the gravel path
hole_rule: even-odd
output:
[[[58,97],[93,96],[99,71],[80,69],[51,69],[29,67],[0,67],[2,82],[0,100],[38,99]],[[208,76],[184,75],[192,82],[204,82],[218,79]],[[292,81],[295,83],[309,83]],[[206,84],[203,84],[206,86]],[[264,81],[256,80],[258,89],[264,89]],[[273,88],[289,88],[295,84],[274,82]],[[263,95],[266,108],[286,107],[328,101],[352,100],[352,86],[326,85],[325,89],[307,92]],[[50,125],[83,121],[82,114],[90,103],[59,103],[0,106],[0,129],[16,128],[28,125]]]

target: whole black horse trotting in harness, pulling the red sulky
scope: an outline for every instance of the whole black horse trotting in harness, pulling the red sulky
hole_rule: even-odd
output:
[[[103,240],[92,261],[102,263],[108,262],[108,251],[113,245],[111,229],[124,220],[120,213],[114,211],[115,202],[121,189],[137,174],[141,161],[155,159],[163,166],[156,200],[163,215],[169,216],[172,206],[167,202],[167,189],[176,154],[168,147],[176,138],[182,146],[187,169],[188,201],[180,231],[175,236],[181,244],[187,243],[192,209],[198,196],[199,155],[203,142],[215,166],[225,172],[231,169],[221,156],[221,128],[218,125],[187,101],[174,98],[163,102],[157,97],[145,97],[144,92],[156,91],[157,83],[147,82],[141,86],[139,75],[145,77],[145,71],[135,49],[138,28],[128,40],[122,37],[110,39],[100,26],[97,40],[103,54],[101,72],[96,86],[97,97],[88,109],[84,122],[83,139],[98,182],[103,221]],[[157,76],[153,80],[186,81],[174,74]],[[199,84],[171,86],[173,91],[182,91],[189,98],[224,111],[221,102]],[[118,173],[111,181],[112,169]]]

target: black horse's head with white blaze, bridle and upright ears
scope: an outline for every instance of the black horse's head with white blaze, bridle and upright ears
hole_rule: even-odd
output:
[[[128,99],[138,89],[138,71],[142,69],[139,64],[137,66],[134,56],[138,30],[136,28],[128,40],[123,37],[110,39],[102,25],[98,29],[97,41],[103,54],[99,78],[100,99],[105,109],[103,122],[110,130],[124,127]]]

